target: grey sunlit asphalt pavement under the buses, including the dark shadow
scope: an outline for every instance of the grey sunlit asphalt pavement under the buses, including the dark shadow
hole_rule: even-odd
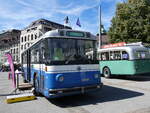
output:
[[[0,113],[150,113],[150,76],[102,78],[100,91],[7,104],[14,90],[8,73],[0,73]]]

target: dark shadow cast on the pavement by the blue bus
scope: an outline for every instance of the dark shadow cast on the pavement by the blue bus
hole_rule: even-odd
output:
[[[142,95],[144,94],[140,92],[104,85],[103,88],[97,92],[49,99],[49,101],[56,106],[65,108],[129,99]]]

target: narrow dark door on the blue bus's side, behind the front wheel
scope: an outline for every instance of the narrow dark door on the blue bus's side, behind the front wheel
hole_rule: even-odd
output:
[[[27,51],[27,80],[30,82],[31,80],[31,70],[30,70],[30,66],[31,66],[31,60],[30,60],[30,50]]]

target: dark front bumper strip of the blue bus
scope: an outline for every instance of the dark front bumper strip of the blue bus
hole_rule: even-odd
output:
[[[53,98],[53,97],[61,97],[66,95],[86,93],[90,91],[99,90],[102,88],[102,86],[103,83],[100,83],[98,85],[89,85],[89,86],[74,87],[74,88],[50,89],[49,96],[50,98]]]

